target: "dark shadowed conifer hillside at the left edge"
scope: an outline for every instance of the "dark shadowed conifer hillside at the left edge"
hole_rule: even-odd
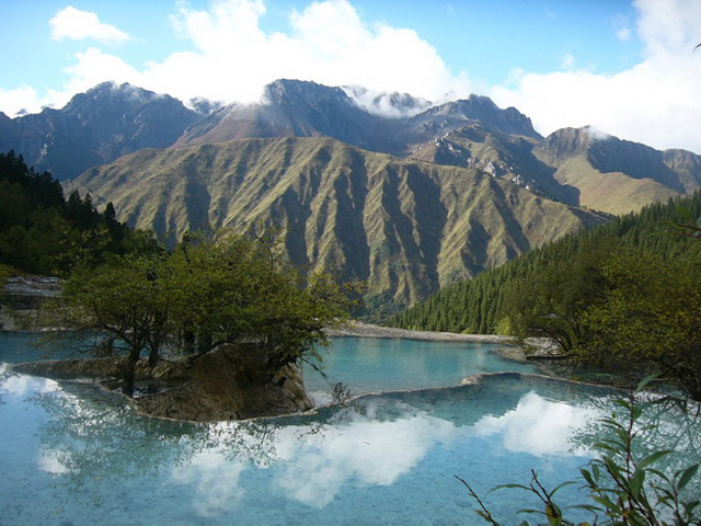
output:
[[[0,153],[0,264],[56,275],[79,261],[147,247],[150,237],[117,221],[111,203],[100,213],[90,194],[66,199],[50,173],[35,172],[14,151]]]

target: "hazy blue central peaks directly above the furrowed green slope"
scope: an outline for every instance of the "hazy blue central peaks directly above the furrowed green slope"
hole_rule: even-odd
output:
[[[402,104],[402,98],[390,98]],[[231,104],[188,129],[176,142],[192,146],[245,137],[333,137],[371,151],[403,157],[417,144],[432,140],[466,122],[484,122],[505,133],[540,136],[516,108],[501,110],[489,98],[469,99],[430,107],[411,117],[370,113],[342,88],[280,79],[265,88],[260,104]]]

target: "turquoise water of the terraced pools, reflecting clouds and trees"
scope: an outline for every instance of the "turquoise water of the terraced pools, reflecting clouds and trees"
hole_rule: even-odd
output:
[[[363,382],[370,373],[332,365],[364,362],[363,342],[355,351],[348,343],[334,341],[327,370],[356,389],[375,389],[378,378]],[[383,355],[394,362],[409,342],[370,343],[372,370],[437,381],[434,371],[443,367],[417,371],[430,345],[392,365]],[[20,361],[24,344],[24,336],[0,335],[0,361]],[[453,355],[475,357],[478,368],[491,359],[448,347],[438,345],[436,359],[455,369],[449,384],[470,370],[458,369],[464,357]],[[346,352],[349,357],[340,356]],[[504,524],[516,524],[516,510],[532,503],[520,492],[487,490],[527,483],[530,469],[550,487],[574,477],[589,453],[573,437],[610,396],[507,374],[479,385],[366,396],[315,415],[191,424],[139,416],[119,396],[89,385],[0,367],[2,526],[483,524],[456,474],[485,495]],[[578,500],[577,491],[566,489],[563,499]]]

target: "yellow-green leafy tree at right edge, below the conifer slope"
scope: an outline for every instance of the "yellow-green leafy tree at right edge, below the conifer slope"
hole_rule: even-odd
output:
[[[582,359],[658,370],[701,400],[701,268],[698,250],[665,259],[628,251],[604,262],[610,283],[586,312],[591,338]]]

